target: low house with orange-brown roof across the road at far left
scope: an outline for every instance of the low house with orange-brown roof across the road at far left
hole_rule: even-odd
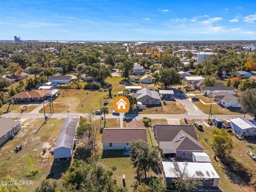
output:
[[[60,90],[35,90],[35,91],[24,91],[13,95],[11,98],[14,103],[17,102],[42,102],[44,100],[55,99],[60,94]]]

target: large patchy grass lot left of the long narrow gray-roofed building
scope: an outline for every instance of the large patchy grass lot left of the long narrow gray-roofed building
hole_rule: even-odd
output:
[[[33,181],[33,186],[23,186],[21,191],[33,191],[38,187],[45,179],[46,174],[50,172],[53,164],[54,157],[50,155],[49,151],[42,156],[42,150],[44,146],[46,148],[54,147],[63,119],[49,119],[35,134],[43,122],[44,119],[41,118],[27,119],[21,124],[21,130],[14,139],[5,143],[0,149],[0,178],[9,175],[16,181]],[[24,147],[15,153],[14,148],[17,145],[24,145]],[[26,174],[31,170],[37,170],[38,174],[28,178]]]

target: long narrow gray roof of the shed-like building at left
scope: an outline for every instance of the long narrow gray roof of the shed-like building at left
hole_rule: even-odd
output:
[[[55,143],[54,149],[60,147],[73,148],[73,141],[76,133],[77,119],[67,118],[65,119],[62,128],[60,130],[59,136]]]

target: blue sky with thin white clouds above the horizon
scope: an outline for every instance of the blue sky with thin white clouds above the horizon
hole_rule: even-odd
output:
[[[0,39],[256,39],[256,1],[1,0]]]

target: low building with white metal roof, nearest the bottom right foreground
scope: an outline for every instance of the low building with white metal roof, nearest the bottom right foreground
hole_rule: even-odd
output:
[[[200,180],[201,187],[218,187],[220,177],[211,163],[196,162],[162,162],[167,183],[179,178],[180,173],[186,170],[191,178]]]

